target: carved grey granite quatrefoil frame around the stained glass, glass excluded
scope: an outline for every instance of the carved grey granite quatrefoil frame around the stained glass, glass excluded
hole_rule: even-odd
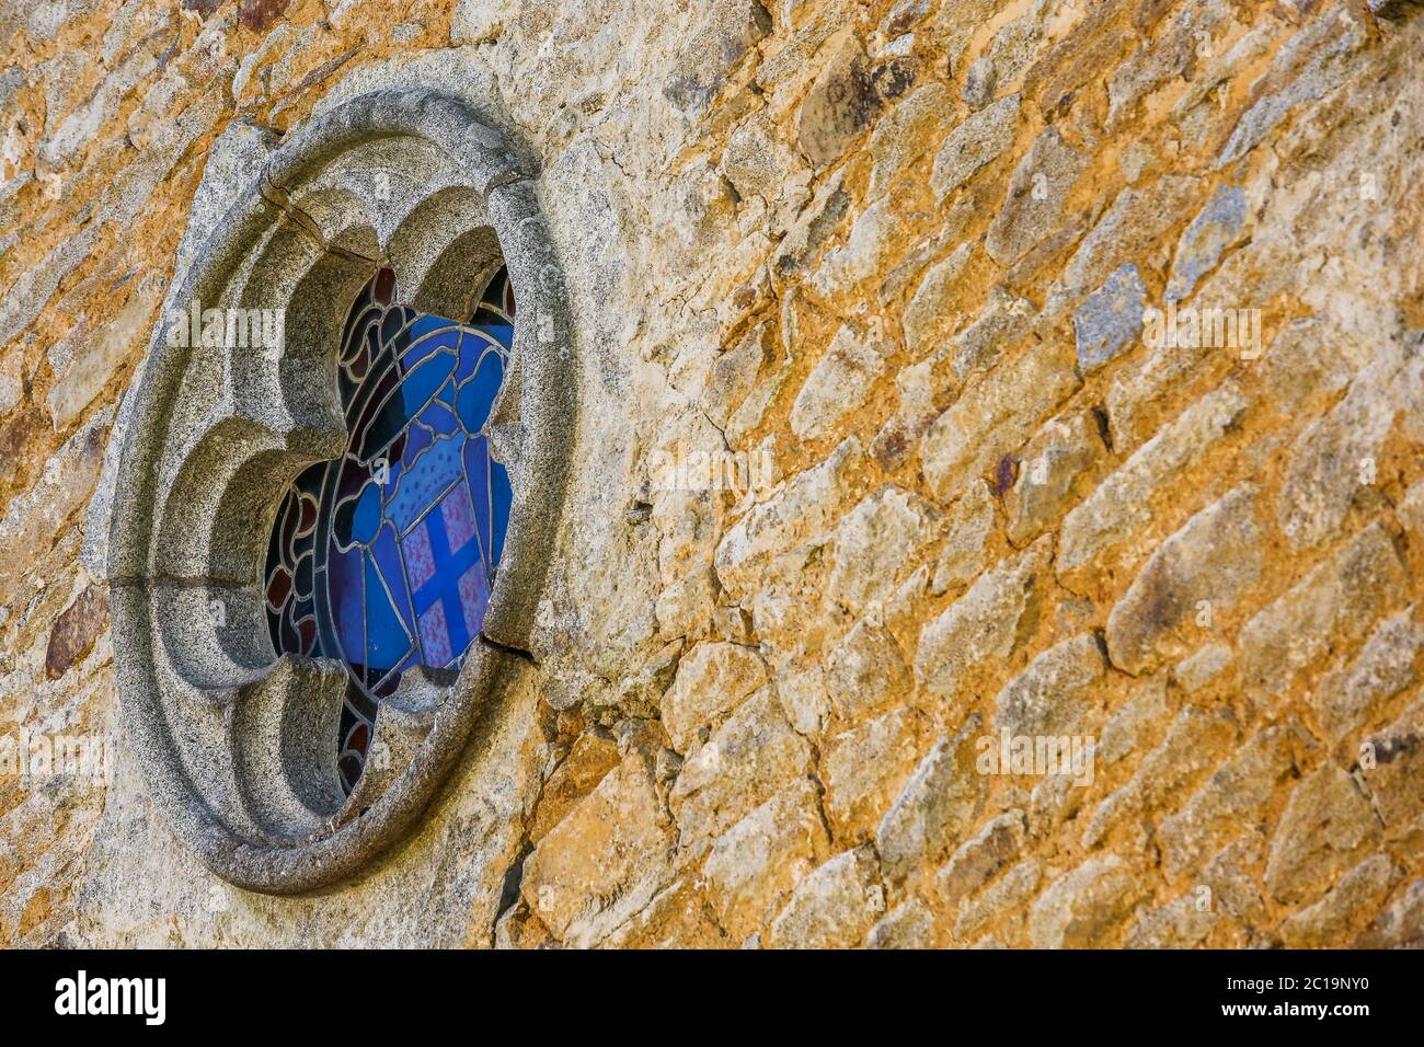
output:
[[[380,759],[345,796],[346,668],[275,654],[262,563],[290,480],[345,443],[337,342],[383,265],[397,302],[451,318],[508,268],[518,312],[490,420],[513,506],[463,668],[406,674],[380,707]],[[281,352],[182,345],[172,329],[194,302],[282,309]],[[457,98],[377,91],[310,120],[206,238],[120,407],[85,558],[110,590],[121,728],[167,823],[215,875],[282,895],[336,883],[440,789],[497,674],[531,645],[577,419],[572,345],[535,178]]]

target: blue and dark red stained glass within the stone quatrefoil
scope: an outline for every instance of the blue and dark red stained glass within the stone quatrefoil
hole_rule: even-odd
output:
[[[461,665],[510,519],[510,479],[488,443],[514,338],[507,272],[464,322],[396,299],[382,269],[352,306],[336,373],[346,450],[283,496],[263,575],[278,654],[346,664],[336,745],[347,792],[402,674]]]

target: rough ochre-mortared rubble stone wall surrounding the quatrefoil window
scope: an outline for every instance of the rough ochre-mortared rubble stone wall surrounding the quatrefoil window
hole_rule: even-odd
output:
[[[0,736],[93,756],[0,775],[0,942],[1424,936],[1413,3],[0,26]],[[575,479],[540,662],[419,830],[268,897],[148,801],[78,550],[189,219],[394,85],[540,164]]]

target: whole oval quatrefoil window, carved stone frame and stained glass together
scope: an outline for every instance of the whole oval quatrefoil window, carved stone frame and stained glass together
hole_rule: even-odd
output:
[[[122,729],[216,875],[336,882],[441,785],[528,648],[571,346],[531,175],[422,91],[290,134],[172,289],[88,558]]]

